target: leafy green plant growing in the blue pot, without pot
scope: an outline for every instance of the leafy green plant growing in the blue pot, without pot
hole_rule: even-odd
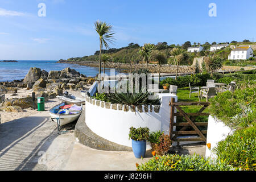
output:
[[[130,127],[129,139],[133,139],[136,141],[147,140],[149,136],[148,127],[139,127],[135,129],[134,127]]]

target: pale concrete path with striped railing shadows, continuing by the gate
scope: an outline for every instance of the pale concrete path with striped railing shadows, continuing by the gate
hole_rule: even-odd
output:
[[[136,159],[133,152],[94,150],[77,143],[73,131],[67,129],[64,127],[59,135],[47,112],[1,124],[0,171],[126,171],[136,170],[136,163],[151,159],[151,151],[144,159]],[[177,148],[177,152],[204,155],[205,144],[183,149]]]

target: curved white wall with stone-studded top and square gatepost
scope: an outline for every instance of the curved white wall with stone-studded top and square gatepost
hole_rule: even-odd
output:
[[[152,111],[150,111],[149,107],[148,112],[145,112],[143,106],[142,113],[136,108],[135,114],[131,111],[132,109],[130,107],[128,111],[124,111],[125,106],[122,106],[122,110],[119,110],[118,105],[108,104],[107,107],[104,102],[92,100],[92,98],[86,96],[86,125],[100,137],[129,147],[131,147],[131,140],[129,140],[129,129],[131,126],[135,128],[148,127],[150,131],[161,130],[169,134],[169,102],[172,97],[177,101],[177,96],[165,93],[159,94],[159,97],[162,98],[160,109],[152,106]]]

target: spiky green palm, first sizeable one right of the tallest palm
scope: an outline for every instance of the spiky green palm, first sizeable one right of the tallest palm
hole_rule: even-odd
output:
[[[142,48],[139,49],[139,55],[141,56],[142,60],[146,62],[146,69],[147,64],[149,61],[153,60],[153,51],[155,49],[154,44],[144,44]]]

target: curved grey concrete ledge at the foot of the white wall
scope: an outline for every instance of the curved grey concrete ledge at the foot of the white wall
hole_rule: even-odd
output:
[[[85,109],[82,111],[80,118],[78,119],[75,127],[75,137],[79,140],[79,143],[84,144],[90,148],[105,151],[133,151],[131,147],[122,146],[120,144],[110,142],[97,134],[85,123]]]

